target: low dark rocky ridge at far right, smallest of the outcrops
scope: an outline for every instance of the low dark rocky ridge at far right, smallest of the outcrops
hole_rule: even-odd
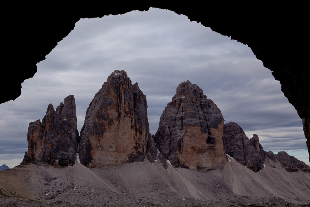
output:
[[[265,154],[266,157],[274,162],[280,162],[282,167],[288,172],[298,172],[298,170],[301,170],[305,173],[310,173],[310,167],[307,164],[284,151],[278,152],[277,155],[274,155],[272,151],[265,152]]]

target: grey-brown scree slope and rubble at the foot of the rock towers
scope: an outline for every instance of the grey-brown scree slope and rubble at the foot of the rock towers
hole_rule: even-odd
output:
[[[0,206],[310,206],[310,176],[267,159],[202,171],[157,160],[106,168],[20,165],[0,172]]]

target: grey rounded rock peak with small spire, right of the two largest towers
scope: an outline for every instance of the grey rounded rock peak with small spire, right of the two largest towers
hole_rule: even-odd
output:
[[[256,134],[255,134],[256,135]],[[224,124],[223,141],[226,153],[254,172],[263,169],[264,158],[260,155],[258,136],[252,137],[252,142],[246,137],[243,129],[234,122]],[[256,142],[257,141],[257,142]],[[263,150],[263,147],[261,148]]]

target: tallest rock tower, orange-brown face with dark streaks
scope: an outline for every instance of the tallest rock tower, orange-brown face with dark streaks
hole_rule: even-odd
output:
[[[144,160],[149,140],[146,96],[124,70],[115,70],[89,104],[80,137],[79,158],[87,167]]]

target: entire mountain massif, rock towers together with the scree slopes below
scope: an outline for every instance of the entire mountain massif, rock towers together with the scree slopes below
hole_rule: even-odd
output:
[[[29,124],[27,140],[23,162],[0,173],[3,206],[310,203],[310,167],[284,151],[264,151],[258,135],[249,139],[237,123],[224,124],[189,80],[176,88],[155,135],[138,83],[115,70],[89,104],[80,134],[69,95]]]

